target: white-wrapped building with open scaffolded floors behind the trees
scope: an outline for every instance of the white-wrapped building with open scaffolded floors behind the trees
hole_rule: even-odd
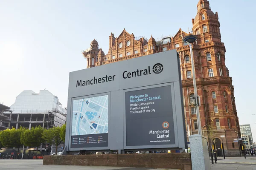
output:
[[[12,110],[10,127],[45,128],[61,126],[66,122],[67,110],[62,108],[57,96],[48,90],[23,91],[10,106]]]

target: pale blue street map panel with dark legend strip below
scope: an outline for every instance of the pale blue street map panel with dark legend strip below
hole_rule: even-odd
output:
[[[73,147],[108,145],[108,95],[73,100]]]

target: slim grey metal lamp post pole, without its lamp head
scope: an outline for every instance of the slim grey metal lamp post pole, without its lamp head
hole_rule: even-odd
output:
[[[193,51],[192,51],[192,45],[189,44],[190,48],[190,55],[191,55],[191,65],[192,65],[192,78],[193,78],[193,86],[194,86],[194,94],[195,94],[195,105],[196,105],[196,117],[198,122],[198,134],[202,135],[202,127],[201,127],[201,119],[200,119],[200,111],[199,111],[199,103],[198,103],[198,93],[197,93],[197,86],[196,86],[196,80],[195,80],[195,65],[194,65],[194,59],[193,59]]]

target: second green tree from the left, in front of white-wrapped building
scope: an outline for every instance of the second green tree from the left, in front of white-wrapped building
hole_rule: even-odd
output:
[[[26,129],[20,136],[20,142],[26,146],[36,147],[36,156],[38,155],[38,147],[44,142],[42,133],[44,128],[39,126],[31,127],[31,130]],[[36,158],[37,159],[37,158]]]

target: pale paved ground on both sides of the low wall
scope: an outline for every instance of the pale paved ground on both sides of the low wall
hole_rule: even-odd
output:
[[[232,163],[235,162],[235,163]],[[174,170],[142,167],[99,167],[73,165],[43,165],[43,160],[14,160],[0,159],[0,170]],[[177,169],[176,169],[177,170]],[[211,164],[211,170],[256,170],[256,156],[227,157],[225,160],[218,157],[217,164]]]

